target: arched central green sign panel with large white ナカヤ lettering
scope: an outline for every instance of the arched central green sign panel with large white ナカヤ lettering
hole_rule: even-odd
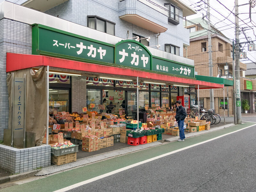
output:
[[[151,69],[152,54],[143,44],[134,40],[124,40],[115,46],[115,63],[117,65]]]

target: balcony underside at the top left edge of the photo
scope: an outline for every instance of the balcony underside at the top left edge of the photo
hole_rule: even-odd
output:
[[[54,0],[54,1],[48,1],[48,0],[28,0],[21,4],[24,7],[32,8],[40,12],[45,12],[52,7],[55,7],[59,4],[62,4],[68,0]]]

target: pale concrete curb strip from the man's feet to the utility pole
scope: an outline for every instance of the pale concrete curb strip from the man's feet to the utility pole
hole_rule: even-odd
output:
[[[211,128],[210,130],[204,130],[204,131],[200,131],[200,132],[185,132],[185,137],[188,138],[188,137],[193,137],[193,136],[196,136],[196,135],[201,135],[201,134],[204,134],[204,133],[208,133],[208,132],[212,132],[212,131],[217,131],[217,130],[220,130],[220,129],[224,129],[226,127],[230,127],[230,126],[233,126],[235,125],[234,123],[230,123],[230,124],[225,124],[225,125],[222,125],[222,126],[219,126],[219,127],[213,127]],[[212,125],[211,125],[212,126]],[[164,135],[164,134],[163,134]],[[176,141],[178,140],[179,136],[171,136],[171,135],[168,135],[168,138],[166,138],[166,135],[165,136],[165,141]]]

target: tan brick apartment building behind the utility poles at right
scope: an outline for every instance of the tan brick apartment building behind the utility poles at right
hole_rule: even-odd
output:
[[[208,55],[208,35],[207,23],[202,18],[192,19],[192,23],[183,22],[183,27],[187,28],[190,38],[190,45],[183,48],[183,56],[192,59],[195,62],[195,71],[197,75],[209,76],[209,55]],[[195,23],[195,24],[193,24]],[[213,26],[211,26],[213,27]],[[232,42],[218,30],[212,33],[212,71],[213,77],[227,78],[225,75],[224,65],[229,66],[228,79],[233,80],[232,74]],[[243,84],[246,65],[240,62],[240,88],[241,99],[243,98]],[[228,87],[229,114],[233,114],[233,87]],[[199,106],[210,108],[210,91],[203,90],[199,94]],[[243,100],[243,99],[242,99]],[[225,109],[227,109],[227,88],[225,87]],[[224,115],[223,89],[214,90],[214,108],[217,113]],[[227,111],[226,111],[227,114]]]

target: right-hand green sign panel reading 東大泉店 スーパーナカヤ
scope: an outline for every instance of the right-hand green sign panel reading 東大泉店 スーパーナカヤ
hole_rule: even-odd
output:
[[[170,75],[194,78],[194,66],[181,64],[155,56],[152,60],[152,70],[161,73],[168,73]]]

